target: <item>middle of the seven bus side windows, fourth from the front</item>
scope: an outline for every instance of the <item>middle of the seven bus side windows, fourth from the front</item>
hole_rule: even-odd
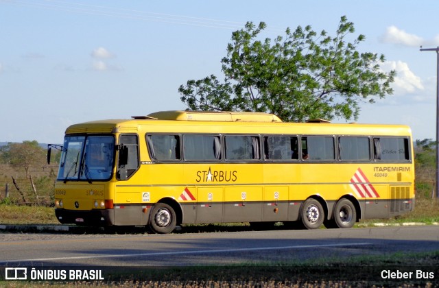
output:
[[[265,136],[264,158],[266,160],[297,160],[298,139],[296,136]]]

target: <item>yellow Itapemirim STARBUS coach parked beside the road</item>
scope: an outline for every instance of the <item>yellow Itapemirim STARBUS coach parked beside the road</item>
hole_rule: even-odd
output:
[[[71,125],[56,217],[169,233],[224,222],[351,228],[414,209],[409,127],[313,122],[165,111]]]

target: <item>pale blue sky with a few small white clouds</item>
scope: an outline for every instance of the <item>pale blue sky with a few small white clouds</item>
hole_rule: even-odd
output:
[[[184,110],[178,87],[214,74],[232,32],[263,38],[311,25],[335,35],[342,16],[398,73],[394,94],[361,104],[357,123],[410,125],[436,139],[439,1],[0,0],[0,142],[62,143],[73,123]],[[261,38],[262,39],[262,38]],[[344,120],[337,119],[343,123]]]

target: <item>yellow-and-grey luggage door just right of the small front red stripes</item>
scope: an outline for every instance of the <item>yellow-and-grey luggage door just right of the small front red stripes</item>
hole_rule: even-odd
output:
[[[222,187],[198,187],[196,223],[221,223],[223,197]]]

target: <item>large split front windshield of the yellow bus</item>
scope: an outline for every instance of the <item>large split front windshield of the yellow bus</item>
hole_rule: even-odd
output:
[[[58,180],[109,180],[114,158],[113,136],[66,136]]]

